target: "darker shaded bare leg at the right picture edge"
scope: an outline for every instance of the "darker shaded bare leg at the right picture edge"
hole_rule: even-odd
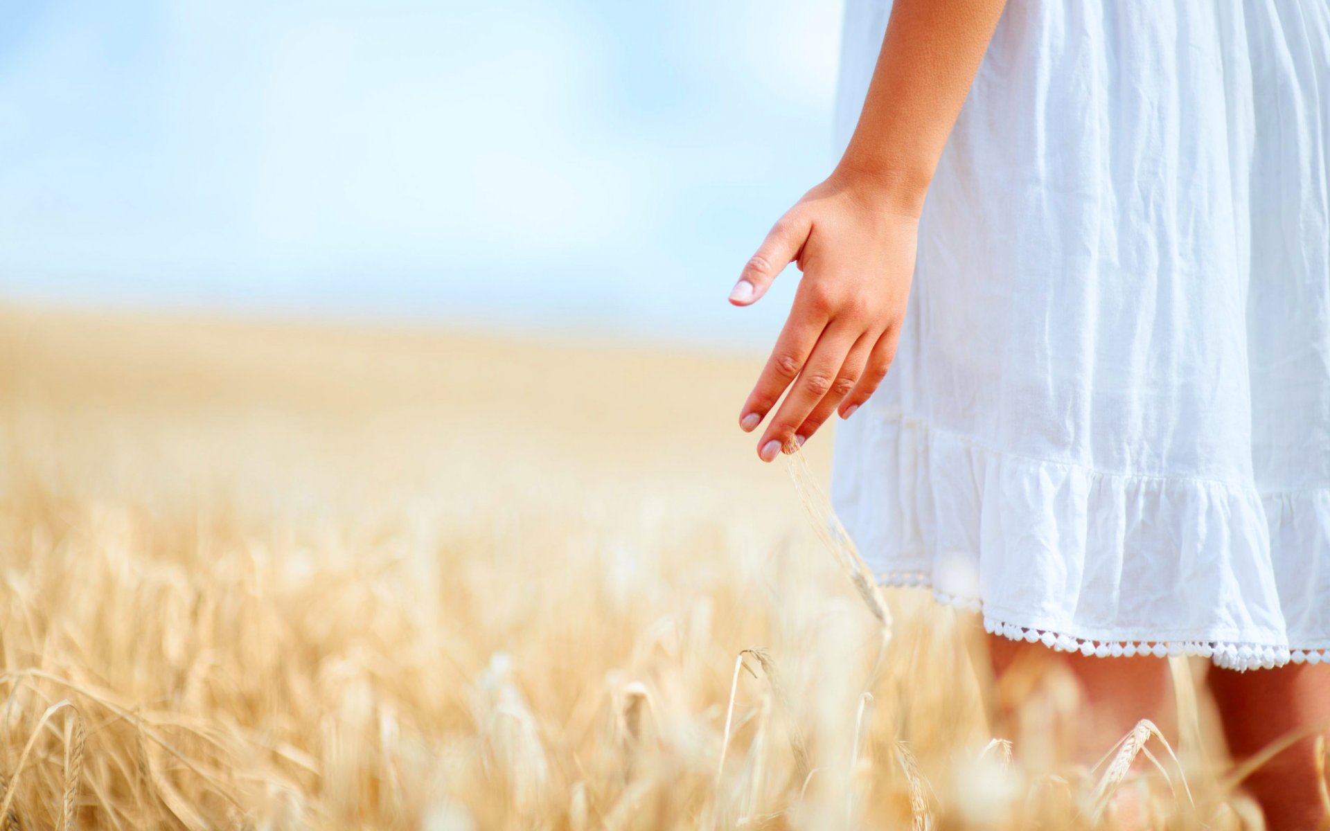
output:
[[[1246,673],[1212,669],[1208,681],[1237,761],[1290,731],[1330,723],[1330,666],[1325,663]],[[1313,735],[1274,757],[1245,784],[1271,831],[1317,828],[1326,818],[1318,775]]]

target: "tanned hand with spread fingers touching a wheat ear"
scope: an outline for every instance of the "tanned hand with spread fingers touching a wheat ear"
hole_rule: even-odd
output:
[[[854,174],[834,173],[775,223],[730,293],[766,294],[794,262],[803,271],[790,316],[739,414],[751,432],[789,387],[758,441],[763,461],[802,445],[831,412],[842,419],[878,388],[896,351],[914,274],[918,207]],[[793,384],[793,386],[791,386]]]

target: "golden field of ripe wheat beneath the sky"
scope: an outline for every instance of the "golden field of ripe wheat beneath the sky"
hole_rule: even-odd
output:
[[[759,366],[0,311],[0,827],[1256,827],[1204,663],[1092,769],[1065,678],[857,586]]]

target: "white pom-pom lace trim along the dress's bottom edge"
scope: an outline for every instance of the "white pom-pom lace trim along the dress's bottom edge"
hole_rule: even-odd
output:
[[[924,572],[884,572],[876,576],[878,582],[887,586],[932,588],[932,577]],[[1056,652],[1079,652],[1085,657],[1130,658],[1133,655],[1198,655],[1209,658],[1224,669],[1249,670],[1270,669],[1285,663],[1330,663],[1330,649],[1294,649],[1266,646],[1262,644],[1233,644],[1226,641],[1095,641],[1069,634],[1048,632],[1031,626],[1020,626],[990,617],[983,610],[983,601],[974,597],[959,597],[932,589],[932,598],[939,604],[984,617],[984,632],[1000,634],[1012,641],[1043,644]]]

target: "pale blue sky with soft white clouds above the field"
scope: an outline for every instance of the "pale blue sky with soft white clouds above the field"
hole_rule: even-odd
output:
[[[0,298],[755,346],[838,3],[5,4]],[[762,308],[765,306],[765,308]]]

